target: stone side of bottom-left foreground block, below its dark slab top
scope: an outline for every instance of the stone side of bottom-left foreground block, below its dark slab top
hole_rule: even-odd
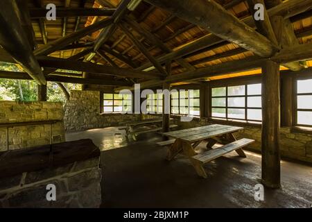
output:
[[[94,157],[62,167],[1,178],[0,207],[99,207],[99,164],[99,157]],[[49,184],[55,185],[55,201],[46,199]]]

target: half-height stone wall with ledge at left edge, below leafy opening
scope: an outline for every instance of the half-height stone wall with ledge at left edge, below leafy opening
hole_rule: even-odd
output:
[[[0,151],[50,144],[50,140],[53,143],[64,142],[63,117],[62,103],[0,101]],[[7,128],[1,124],[30,121],[55,123],[9,127],[7,147]]]

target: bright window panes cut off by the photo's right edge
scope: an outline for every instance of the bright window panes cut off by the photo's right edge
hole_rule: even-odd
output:
[[[297,80],[296,125],[312,126],[312,79]]]

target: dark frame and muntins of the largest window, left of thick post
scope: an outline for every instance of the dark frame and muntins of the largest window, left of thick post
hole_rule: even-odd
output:
[[[226,83],[223,80],[220,80],[217,84],[211,84],[210,89],[209,89],[209,119],[212,119],[214,121],[225,121],[225,122],[234,122],[234,123],[245,123],[245,124],[250,124],[250,125],[260,125],[262,124],[262,119],[261,120],[255,120],[255,119],[248,119],[248,110],[262,110],[262,104],[260,108],[256,107],[249,107],[248,106],[248,98],[250,97],[260,97],[262,99],[262,92],[261,94],[252,94],[248,95],[248,85],[257,85],[257,84],[262,84],[261,80],[250,80],[250,81],[233,81],[232,83]],[[228,95],[228,88],[229,87],[235,87],[235,86],[244,86],[245,87],[245,92],[244,95],[234,95],[234,96],[229,96]],[[219,88],[219,87],[225,87],[225,96],[212,96],[212,90],[214,88]],[[213,106],[212,105],[212,100],[214,98],[225,98],[225,106]],[[229,98],[244,98],[245,99],[245,106],[244,107],[229,107],[228,101]],[[212,116],[212,110],[214,108],[220,108],[220,109],[225,109],[225,117],[213,117]],[[239,110],[244,110],[244,119],[239,119],[239,118],[232,118],[229,117],[228,110],[229,109],[239,109]]]

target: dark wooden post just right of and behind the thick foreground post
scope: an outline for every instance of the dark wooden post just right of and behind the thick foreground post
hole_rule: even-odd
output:
[[[293,126],[293,78],[281,78],[281,126]]]

